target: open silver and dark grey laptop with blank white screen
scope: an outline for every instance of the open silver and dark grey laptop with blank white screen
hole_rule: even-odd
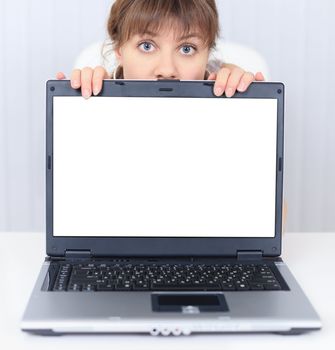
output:
[[[281,259],[284,85],[46,83],[46,253],[21,322],[70,333],[319,330]]]

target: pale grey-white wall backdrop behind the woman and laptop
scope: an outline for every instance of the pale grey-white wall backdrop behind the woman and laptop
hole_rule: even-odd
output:
[[[0,1],[0,230],[44,231],[45,81],[104,39],[110,0]],[[335,2],[217,0],[222,36],[286,84],[288,231],[335,231]]]

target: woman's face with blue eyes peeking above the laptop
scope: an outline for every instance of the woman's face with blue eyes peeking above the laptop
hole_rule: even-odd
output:
[[[199,33],[191,34],[181,38],[175,31],[163,29],[131,37],[115,50],[124,79],[204,79],[209,48]]]

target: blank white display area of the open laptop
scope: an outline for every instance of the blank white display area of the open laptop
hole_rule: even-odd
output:
[[[277,99],[56,96],[53,235],[274,237]]]

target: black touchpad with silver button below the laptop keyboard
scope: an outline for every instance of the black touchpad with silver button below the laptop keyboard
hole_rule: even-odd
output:
[[[194,314],[199,312],[229,311],[223,294],[215,293],[153,293],[152,310],[157,312],[182,312]]]

